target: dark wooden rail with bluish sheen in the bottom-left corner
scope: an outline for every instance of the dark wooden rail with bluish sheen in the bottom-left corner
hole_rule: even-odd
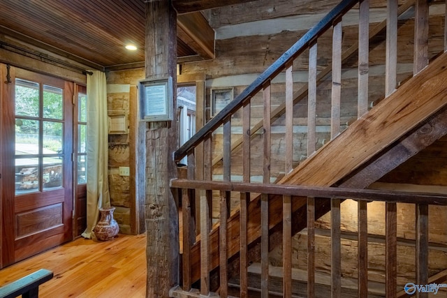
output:
[[[50,281],[53,273],[47,269],[39,269],[17,281],[3,285],[0,288],[0,298],[13,298],[23,295],[23,297],[37,298],[39,285]]]

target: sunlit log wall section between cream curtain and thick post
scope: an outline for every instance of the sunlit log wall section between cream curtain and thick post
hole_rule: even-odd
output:
[[[110,201],[115,209],[115,219],[120,232],[140,234],[144,223],[144,174],[138,172],[135,161],[138,148],[138,81],[144,78],[144,70],[117,70],[107,73],[108,114],[124,115],[129,130],[127,133],[109,135],[109,186]],[[130,175],[119,174],[119,167],[130,167]],[[144,170],[144,169],[143,169]]]

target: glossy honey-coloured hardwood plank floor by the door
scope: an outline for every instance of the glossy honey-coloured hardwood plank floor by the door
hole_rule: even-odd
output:
[[[0,270],[0,285],[38,269],[54,272],[39,297],[145,297],[146,235],[79,238]]]

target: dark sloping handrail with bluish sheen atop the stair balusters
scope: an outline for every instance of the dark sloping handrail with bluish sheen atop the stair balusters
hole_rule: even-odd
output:
[[[205,124],[205,126],[203,126],[203,128],[201,128],[196,135],[193,135],[191,139],[175,151],[175,161],[180,161],[184,158],[184,156],[186,156],[186,154],[188,154],[193,147],[203,140],[203,137],[209,133],[212,133],[212,131],[223,124],[225,119],[227,119],[230,114],[236,112],[240,107],[242,107],[248,98],[251,98],[251,96],[254,96],[258,91],[260,91],[266,82],[272,80],[273,77],[281,73],[281,71],[286,68],[287,64],[291,63],[291,61],[293,61],[299,54],[307,50],[307,47],[313,40],[316,40],[316,38],[328,30],[337,18],[344,15],[344,13],[349,11],[354,5],[356,5],[357,2],[358,0],[344,0],[335,6],[335,8],[328,13],[328,15],[325,15],[325,17],[323,17],[318,24],[307,31],[302,38],[300,38],[294,45],[292,45],[290,49],[282,54],[281,57],[274,62],[274,64],[264,70],[264,72],[244,91],[242,91],[239,96],[228,103],[228,105],[226,105],[226,107],[224,107],[215,117],[207,122],[207,124]]]

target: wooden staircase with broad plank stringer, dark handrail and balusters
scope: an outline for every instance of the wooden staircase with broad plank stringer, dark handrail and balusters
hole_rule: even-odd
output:
[[[335,221],[332,223],[335,226],[339,225],[339,222],[337,223],[337,214],[339,214],[339,204],[342,198],[358,198],[359,200],[359,246],[367,246],[367,240],[365,240],[365,233],[367,234],[365,230],[367,200],[386,200],[387,207],[390,207],[390,215],[393,214],[393,204],[395,202],[420,202],[416,200],[416,197],[404,198],[400,194],[394,194],[397,195],[397,198],[388,202],[386,198],[393,196],[392,193],[369,193],[368,191],[360,191],[360,189],[367,188],[369,184],[377,181],[384,174],[417,154],[418,151],[423,150],[438,140],[439,137],[447,134],[447,98],[445,97],[445,94],[447,94],[446,53],[441,54],[396,91],[393,91],[394,88],[388,89],[386,98],[381,100],[369,112],[360,113],[358,120],[345,131],[338,134],[337,129],[333,130],[335,133],[332,133],[332,140],[321,147],[321,149],[315,151],[312,148],[312,142],[314,143],[312,137],[315,135],[315,123],[312,123],[312,119],[315,118],[315,111],[312,111],[312,98],[316,96],[315,88],[317,84],[316,68],[312,64],[312,61],[316,61],[316,56],[312,54],[312,49],[316,45],[316,38],[321,35],[321,32],[328,29],[328,24],[334,24],[334,38],[338,38],[337,32],[339,32],[339,27],[337,26],[339,25],[340,15],[351,9],[355,3],[356,1],[342,1],[335,10],[332,10],[328,17],[309,31],[309,36],[306,35],[301,38],[298,43],[293,45],[291,50],[280,57],[258,80],[247,87],[240,96],[233,100],[232,103],[208,122],[197,135],[176,152],[176,160],[183,158],[187,154],[189,163],[194,164],[196,156],[199,156],[201,154],[200,151],[203,151],[205,168],[205,171],[198,175],[202,176],[202,179],[194,179],[193,171],[189,170],[188,179],[172,181],[173,188],[182,188],[184,226],[190,227],[194,222],[194,219],[191,217],[191,207],[200,208],[201,216],[195,219],[197,225],[200,223],[200,237],[196,239],[191,229],[184,229],[186,234],[184,234],[183,290],[177,290],[178,295],[182,293],[186,297],[196,297],[189,293],[189,290],[191,290],[191,285],[194,282],[200,280],[201,295],[209,295],[210,290],[217,290],[219,287],[219,295],[226,297],[228,295],[228,288],[226,288],[228,285],[225,286],[225,284],[228,284],[228,276],[240,274],[240,296],[247,297],[247,265],[249,262],[261,260],[261,280],[268,281],[268,267],[266,267],[268,263],[265,263],[265,259],[268,258],[269,249],[278,244],[283,244],[286,253],[290,253],[287,252],[287,248],[290,246],[290,239],[287,237],[303,228],[310,229],[309,231],[312,233],[312,221],[315,221],[316,218],[326,214],[328,211],[332,210],[332,214],[335,215]],[[406,5],[409,4],[406,3]],[[403,10],[402,7],[401,9]],[[360,14],[362,13],[365,13],[365,8],[360,8]],[[397,20],[397,12],[395,15],[391,15],[391,18]],[[359,30],[361,31],[362,29]],[[263,91],[265,106],[270,106],[270,81],[272,77],[281,72],[281,70],[286,71],[286,77],[291,77],[291,61],[302,52],[302,49],[307,47],[310,47],[308,89],[300,90],[297,92],[298,95],[292,96],[293,92],[288,89],[291,86],[291,82],[288,81],[290,79],[286,79],[286,103],[284,107],[274,112],[264,108],[263,123],[259,127],[255,125],[252,128],[249,123],[250,99],[258,91]],[[365,59],[365,47],[367,48],[367,45],[360,43],[358,50],[360,53],[359,64],[361,64],[361,59]],[[338,58],[334,57],[333,60],[341,61],[342,58],[340,57],[342,57],[341,54]],[[417,64],[418,62],[415,60],[415,65]],[[386,80],[390,80],[390,77],[393,76],[393,67],[390,69],[391,74],[388,73],[386,75]],[[337,80],[339,80],[337,73],[340,72],[341,65],[332,66],[333,82],[337,83]],[[362,80],[359,78],[359,81]],[[337,100],[339,102],[340,99],[339,90],[337,90],[338,84],[334,84],[334,86],[332,94],[335,94],[335,105],[337,105]],[[291,116],[291,112],[288,111],[291,110],[291,107],[293,108],[293,103],[295,103],[297,98],[303,97],[302,94],[307,95],[309,100],[308,143],[311,143],[309,156],[291,172],[288,172],[284,178],[280,179],[277,186],[273,187],[270,186],[269,169],[270,119],[277,117],[277,112],[285,111],[288,128],[293,126],[293,121],[291,120],[293,115]],[[365,87],[365,84],[360,82],[359,98],[362,96],[367,96],[367,83]],[[332,95],[332,101],[334,101],[334,95]],[[365,108],[360,108],[364,105],[364,100],[359,100],[358,105],[359,110],[365,110]],[[232,145],[230,115],[235,114],[240,109],[244,115],[242,131],[247,133],[244,134],[242,142]],[[332,114],[337,114],[337,110],[333,111]],[[214,182],[211,181],[211,172],[207,172],[206,169],[210,170],[212,168],[211,132],[221,125],[223,126],[223,155],[221,158],[223,159],[224,179],[222,182]],[[263,129],[264,139],[263,186],[256,186],[250,183],[250,164],[246,162],[244,162],[244,181],[241,184],[231,182],[231,157],[228,152],[242,144],[242,156],[247,156],[250,152],[251,135],[259,128]],[[286,131],[286,134],[287,132],[290,131]],[[293,140],[291,140],[291,137],[286,137],[286,142],[290,144]],[[200,147],[197,147],[199,144]],[[285,158],[285,163],[286,171],[288,171],[288,169],[291,169],[291,156],[288,154]],[[298,186],[298,188],[291,186]],[[332,188],[328,188],[331,186]],[[340,196],[337,193],[332,193],[335,191],[333,186],[337,186],[343,191],[348,188],[353,188],[356,191],[346,196]],[[306,187],[309,187],[309,189]],[[188,191],[188,189],[196,190],[195,193],[198,201],[200,201],[200,207],[194,206],[194,192]],[[265,189],[265,191],[260,191],[260,189]],[[220,191],[221,216],[219,224],[214,225],[211,229],[210,204],[212,202],[212,190]],[[228,216],[230,214],[228,206],[230,191],[240,192],[240,211]],[[309,192],[307,193],[307,191]],[[251,195],[250,198],[250,193],[262,194]],[[315,198],[318,198],[318,200]],[[444,204],[441,202],[433,203]],[[432,204],[432,201],[425,201],[425,204]],[[293,225],[291,224],[292,222]],[[392,223],[390,223],[389,227],[393,231]],[[335,231],[334,236],[337,237],[337,228],[333,230]],[[393,239],[392,237],[393,234],[390,236],[390,241]],[[424,241],[424,239],[419,240]],[[308,254],[309,260],[312,260],[311,246],[309,246],[309,251],[311,252],[311,255]],[[334,247],[333,251],[337,251],[337,249],[339,250],[339,247]],[[365,255],[360,255],[360,253],[359,251],[359,271],[366,269],[365,263],[360,263],[361,256],[365,257]],[[390,251],[389,254],[390,263],[387,263],[387,266],[389,265],[392,268],[393,251]],[[339,261],[339,257],[338,260],[335,257],[333,261],[336,273]],[[284,264],[286,263],[287,257],[284,257]],[[312,271],[312,265],[310,266],[309,272]],[[291,269],[286,268],[285,270],[288,272]],[[284,278],[284,280],[284,296],[289,296],[287,293],[290,294],[291,289],[288,283],[291,283],[291,278]],[[335,284],[335,288],[337,288],[339,277],[335,277],[332,282]],[[266,283],[261,285],[261,292],[268,292]],[[308,283],[309,285],[314,284],[312,276],[309,276]],[[362,293],[365,294],[365,291],[367,291],[367,277],[365,279],[365,276],[362,276],[362,278],[359,276],[358,289],[359,296]],[[337,292],[337,290],[335,291]],[[390,285],[387,284],[387,296],[393,296],[395,292],[394,277],[390,279]],[[310,290],[308,295],[312,297],[314,292]],[[262,295],[262,297],[267,296]]]

